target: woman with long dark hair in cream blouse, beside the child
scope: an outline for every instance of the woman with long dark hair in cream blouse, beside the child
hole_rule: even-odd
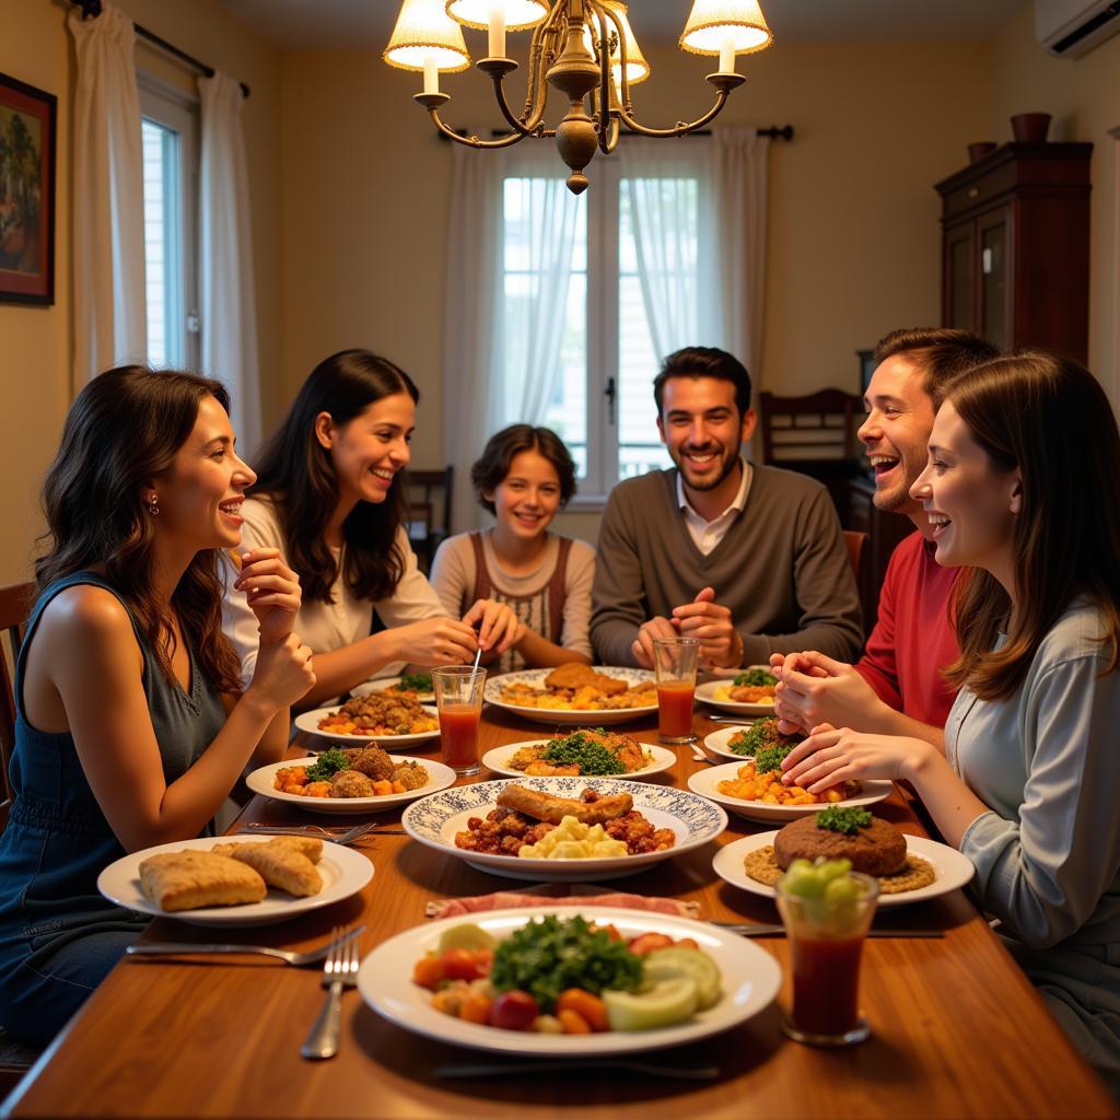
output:
[[[479,600],[461,619],[448,617],[417,567],[396,477],[410,459],[419,399],[392,362],[340,351],[311,371],[261,455],[243,508],[245,542],[279,549],[299,576],[296,628],[315,651],[317,676],[302,707],[328,703],[391,664],[455,664],[479,645],[504,652],[517,635],[504,604]],[[385,628],[371,633],[374,609]],[[256,627],[235,587],[223,625],[245,676]]]

